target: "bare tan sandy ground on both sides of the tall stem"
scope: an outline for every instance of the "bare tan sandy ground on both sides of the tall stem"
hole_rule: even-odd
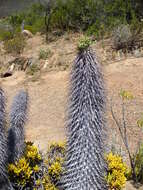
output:
[[[16,92],[21,88],[28,90],[30,103],[26,139],[34,141],[43,150],[47,149],[51,141],[63,141],[66,137],[65,117],[69,88],[69,65],[75,57],[76,39],[77,36],[73,36],[68,40],[61,38],[47,45],[53,52],[53,55],[47,60],[47,65],[53,64],[53,67],[47,66],[45,71],[41,69],[41,72],[35,74],[34,77],[27,76],[23,71],[16,71],[11,77],[0,79],[1,86],[6,92],[8,110]],[[28,40],[27,49],[25,49],[23,55],[32,55],[38,59],[39,48],[47,48],[47,46],[43,43],[41,37],[34,37],[34,39]],[[99,59],[102,57],[100,53],[99,49],[97,49]],[[2,61],[8,59],[10,57],[2,57]],[[58,70],[59,60],[62,62],[62,66],[59,65],[60,69]],[[62,60],[64,60],[64,63]],[[45,63],[43,64],[42,62],[41,64],[44,65]],[[65,64],[68,66],[64,68]],[[52,69],[48,70],[49,68]],[[102,68],[107,97],[108,99],[112,97],[115,100],[116,105],[114,108],[118,118],[120,118],[120,102],[118,98],[120,90],[131,91],[135,96],[136,101],[133,102],[133,107],[128,107],[128,112],[132,115],[129,119],[129,125],[130,123],[133,125],[133,127],[129,128],[128,135],[130,146],[134,150],[139,137],[142,138],[142,134],[136,126],[136,120],[141,117],[143,107],[143,57],[112,60],[111,62],[108,61],[107,64],[104,61]],[[114,143],[120,147],[122,142],[111,118],[109,107],[107,109],[107,120],[110,144]],[[137,188],[133,187],[131,183],[127,183],[126,189],[133,190]],[[143,187],[140,187],[140,189],[143,189]]]

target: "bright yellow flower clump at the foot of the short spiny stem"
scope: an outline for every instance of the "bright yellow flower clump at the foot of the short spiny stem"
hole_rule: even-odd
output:
[[[15,189],[36,187],[42,157],[38,148],[31,142],[26,143],[24,155],[19,161],[9,164],[8,173]]]

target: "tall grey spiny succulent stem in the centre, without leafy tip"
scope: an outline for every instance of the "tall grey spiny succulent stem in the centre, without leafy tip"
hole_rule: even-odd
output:
[[[105,95],[91,49],[80,51],[71,73],[67,156],[60,181],[64,190],[105,190]]]

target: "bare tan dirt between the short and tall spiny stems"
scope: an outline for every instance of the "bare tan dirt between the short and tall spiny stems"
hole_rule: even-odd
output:
[[[67,72],[58,72],[44,75],[38,82],[25,83],[24,73],[18,72],[2,81],[8,110],[17,91],[21,88],[28,90],[30,102],[26,137],[42,149],[47,148],[49,141],[63,141],[65,138],[67,78]]]

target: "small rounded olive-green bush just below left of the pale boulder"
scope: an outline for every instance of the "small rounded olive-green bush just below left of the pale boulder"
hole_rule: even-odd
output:
[[[7,53],[20,54],[26,45],[23,35],[17,34],[13,39],[4,42],[4,49]]]

